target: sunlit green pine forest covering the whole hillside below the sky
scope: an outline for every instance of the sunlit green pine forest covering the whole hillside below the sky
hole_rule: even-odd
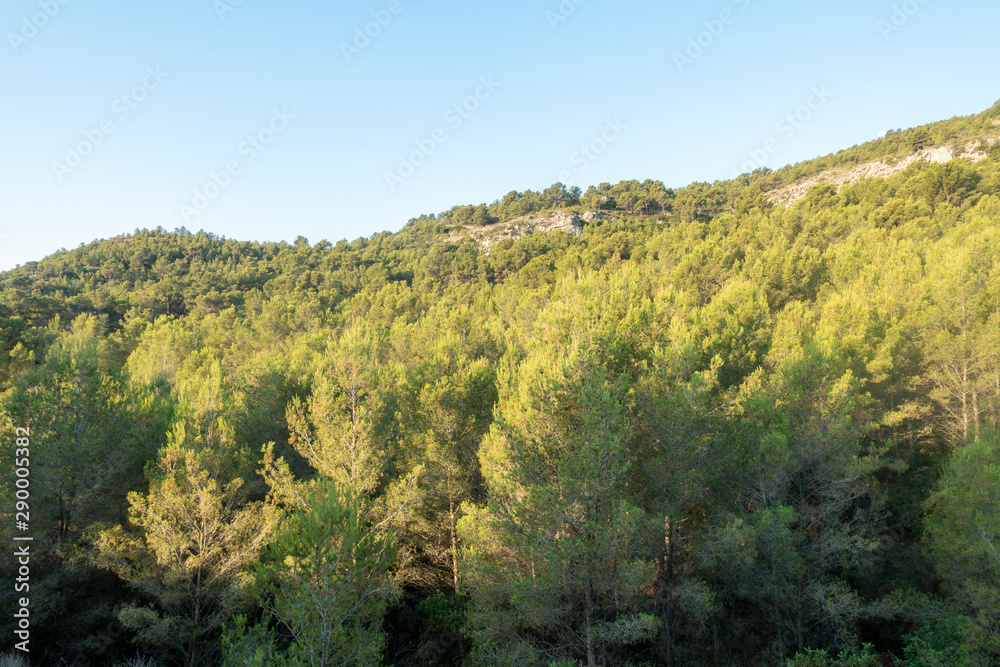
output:
[[[1000,664],[998,125],[0,274],[0,664]]]

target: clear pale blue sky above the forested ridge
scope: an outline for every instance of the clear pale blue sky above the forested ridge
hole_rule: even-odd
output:
[[[985,0],[4,0],[0,270],[776,169],[989,108],[997,25]]]

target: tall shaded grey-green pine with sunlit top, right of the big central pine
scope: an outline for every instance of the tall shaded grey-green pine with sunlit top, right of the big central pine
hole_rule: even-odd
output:
[[[848,575],[872,557],[881,520],[874,474],[885,450],[866,437],[869,401],[815,344],[788,354],[773,377],[755,374],[741,394],[737,523],[757,548],[734,576],[760,582],[743,593],[773,614],[782,658],[815,637],[849,647],[861,607]]]

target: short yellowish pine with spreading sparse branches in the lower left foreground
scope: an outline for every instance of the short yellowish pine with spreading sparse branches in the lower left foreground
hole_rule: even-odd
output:
[[[212,458],[172,441],[149,493],[129,494],[138,532],[118,526],[97,541],[100,562],[153,602],[125,605],[122,625],[188,667],[209,661],[220,628],[248,608],[248,568],[277,523],[273,507],[242,505],[243,481],[220,479]]]

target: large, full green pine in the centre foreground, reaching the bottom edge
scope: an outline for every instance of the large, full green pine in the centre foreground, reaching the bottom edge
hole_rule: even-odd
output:
[[[480,453],[490,502],[468,507],[469,631],[483,664],[604,664],[648,640],[654,578],[628,481],[626,387],[579,345],[547,348],[502,383]]]

